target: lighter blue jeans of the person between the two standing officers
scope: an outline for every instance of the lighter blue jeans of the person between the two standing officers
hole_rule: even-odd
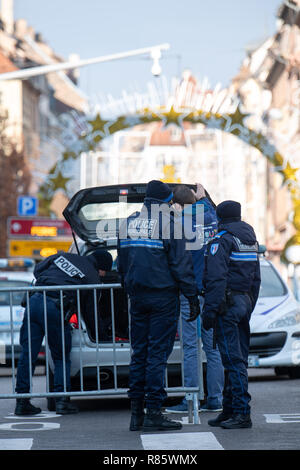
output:
[[[200,305],[202,308],[202,297],[200,297]],[[180,296],[180,309],[184,350],[184,385],[186,387],[197,387],[199,384],[197,322],[186,322],[186,319],[189,318],[190,309],[188,300],[183,295]],[[206,331],[201,328],[201,339],[207,360],[207,404],[209,406],[219,406],[223,398],[224,368],[218,347],[213,349],[213,330]]]

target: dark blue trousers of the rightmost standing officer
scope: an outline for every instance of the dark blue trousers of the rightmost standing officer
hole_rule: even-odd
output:
[[[226,369],[223,410],[226,413],[249,414],[248,353],[252,304],[247,294],[236,294],[233,305],[218,316],[217,344]]]

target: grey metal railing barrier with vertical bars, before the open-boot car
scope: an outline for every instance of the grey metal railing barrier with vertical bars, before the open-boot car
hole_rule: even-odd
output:
[[[118,319],[116,317],[116,291],[121,289],[120,284],[99,284],[99,285],[63,285],[63,286],[30,286],[30,287],[13,287],[13,288],[0,288],[0,296],[3,293],[9,294],[9,305],[7,309],[9,313],[9,328],[3,329],[0,327],[0,365],[7,364],[6,357],[3,357],[3,354],[7,352],[7,349],[11,352],[11,358],[9,360],[9,365],[11,362],[12,368],[12,390],[10,393],[0,393],[0,399],[4,398],[39,398],[46,397],[48,399],[61,397],[61,396],[113,396],[113,395],[123,395],[127,394],[126,387],[120,387],[118,382],[124,383],[124,376],[126,380],[126,375],[128,375],[131,347],[130,347],[130,308],[128,305],[127,310],[127,336],[128,338],[117,338],[116,334],[118,333],[119,325]],[[67,291],[74,291],[74,297],[76,298],[76,308],[72,311],[66,310],[64,305],[64,293]],[[84,291],[89,291],[89,300],[92,299],[93,304],[93,314],[90,312],[87,317],[86,312],[82,312],[82,296]],[[100,295],[99,295],[100,291]],[[109,294],[107,293],[109,291]],[[121,291],[122,292],[122,291]],[[15,327],[15,305],[13,302],[14,293],[24,293],[26,299],[26,317],[25,320],[27,323],[28,331],[28,369],[29,369],[29,392],[28,393],[16,393],[16,372],[17,366],[16,362],[19,359],[20,348],[16,344],[16,333],[19,332],[19,329]],[[35,361],[32,357],[32,325],[31,325],[31,302],[30,297],[39,293],[41,295],[40,304],[41,304],[41,315],[43,315],[43,325],[44,325],[44,345],[45,345],[45,375],[46,375],[46,390],[43,392],[34,392],[33,391],[33,372]],[[56,300],[53,299],[53,293],[55,293]],[[106,293],[106,294],[105,294]],[[85,293],[86,294],[86,293]],[[99,302],[106,295],[106,301],[110,306],[110,322],[109,331],[110,337],[103,339],[102,326],[99,322],[102,323],[101,318],[101,305],[99,311]],[[107,298],[109,296],[109,299]],[[125,296],[125,294],[124,294]],[[85,300],[87,297],[85,297]],[[51,357],[51,352],[49,348],[49,331],[48,331],[48,309],[49,301],[56,301],[56,307],[60,310],[60,334],[61,334],[61,345],[62,345],[62,365],[63,365],[63,391],[54,392],[53,391],[53,375],[54,375],[54,363]],[[106,304],[107,304],[106,302]],[[127,301],[125,302],[127,303]],[[3,308],[3,307],[2,307]],[[107,305],[106,305],[107,308]],[[67,389],[67,365],[66,365],[66,350],[65,350],[65,329],[70,328],[70,324],[66,321],[66,315],[69,313],[75,313],[77,315],[77,325],[76,328],[73,328],[72,336],[72,349],[71,349],[71,381],[74,383],[76,381],[76,388],[71,387]],[[107,312],[106,312],[107,313]],[[120,313],[120,312],[119,312]],[[126,313],[126,312],[125,312]],[[124,312],[122,312],[124,315]],[[123,319],[124,320],[124,319]],[[179,337],[175,341],[173,351],[168,360],[168,367],[166,369],[165,375],[165,386],[168,394],[170,393],[185,393],[187,403],[188,403],[188,416],[189,422],[195,424],[199,423],[198,415],[198,402],[199,399],[203,399],[204,388],[203,388],[203,368],[202,368],[202,346],[201,339],[198,337],[195,338],[197,341],[198,347],[198,377],[199,384],[197,387],[185,387],[184,386],[184,348],[182,341],[182,329],[183,321],[181,316],[179,317]],[[91,322],[94,327],[89,326]],[[68,325],[68,326],[67,326]],[[1,335],[3,333],[10,333],[10,343],[6,342],[3,344],[1,341]],[[175,378],[178,376],[181,378],[181,384],[170,386],[169,385],[169,368],[175,367]],[[86,376],[86,372],[89,374]],[[92,372],[92,374],[91,374]],[[121,374],[120,374],[121,372]],[[174,372],[174,371],[173,371]],[[121,380],[120,380],[121,375]],[[103,377],[109,378],[109,382],[103,384]],[[178,378],[177,377],[177,378]],[[89,380],[88,387],[86,387],[85,382]],[[91,389],[90,379],[92,379],[93,386]],[[104,381],[105,382],[105,381]],[[48,402],[49,403],[49,402]],[[194,419],[193,419],[194,418]]]

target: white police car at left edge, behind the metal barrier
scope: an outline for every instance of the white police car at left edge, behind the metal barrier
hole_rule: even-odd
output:
[[[24,292],[3,291],[14,287],[29,287],[33,280],[34,262],[31,259],[0,259],[0,365],[10,366],[14,351],[20,355],[19,332],[24,316],[21,307]],[[12,321],[11,321],[12,320]]]

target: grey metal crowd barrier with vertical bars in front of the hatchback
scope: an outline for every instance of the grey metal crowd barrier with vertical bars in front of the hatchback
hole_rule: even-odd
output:
[[[74,397],[83,397],[83,396],[115,396],[115,395],[124,395],[127,394],[127,388],[122,388],[118,386],[118,372],[120,368],[129,369],[130,362],[130,306],[128,305],[128,339],[116,340],[116,315],[115,315],[115,303],[114,303],[114,292],[117,289],[120,289],[120,284],[99,284],[99,285],[80,285],[80,286],[30,286],[30,287],[14,287],[14,288],[0,288],[0,296],[3,293],[9,294],[9,327],[4,330],[0,329],[0,366],[7,365],[5,358],[6,347],[9,346],[11,350],[11,368],[12,368],[12,389],[10,393],[0,393],[0,399],[7,398],[40,398],[46,397],[47,399],[59,397],[59,396],[74,396]],[[77,301],[77,319],[78,327],[72,331],[72,351],[71,351],[71,378],[72,376],[72,364],[79,364],[79,371],[76,373],[76,378],[78,381],[79,378],[79,390],[67,390],[67,379],[66,379],[66,355],[65,355],[65,308],[63,302],[63,294],[66,291],[76,291],[76,301]],[[95,338],[91,340],[87,333],[86,321],[83,318],[81,312],[81,302],[80,302],[80,293],[84,290],[91,291],[93,295],[93,305],[94,305],[94,324],[95,324]],[[111,308],[111,340],[102,341],[99,338],[99,294],[103,295],[104,291],[110,291],[110,308]],[[51,358],[51,353],[48,345],[48,325],[47,325],[47,298],[50,298],[51,292],[59,292],[59,305],[60,305],[60,325],[61,325],[61,338],[62,338],[62,355],[63,355],[63,383],[64,391],[63,392],[53,392],[51,390],[53,382],[53,361]],[[32,364],[32,345],[31,345],[31,326],[30,326],[30,295],[33,293],[39,292],[43,296],[43,311],[41,314],[44,317],[44,344],[45,344],[45,375],[46,375],[46,390],[44,392],[34,392],[33,391],[33,372],[34,365]],[[30,378],[30,391],[29,393],[17,394],[15,392],[16,387],[16,372],[17,372],[17,360],[18,353],[20,352],[19,345],[15,342],[15,334],[19,329],[15,328],[14,325],[14,305],[13,305],[13,294],[14,293],[24,293],[27,301],[27,327],[28,327],[28,343],[29,343],[29,378]],[[48,294],[48,297],[47,297]],[[50,295],[49,295],[50,294]],[[101,321],[101,316],[100,316]],[[175,364],[175,367],[179,367],[181,375],[181,385],[180,386],[169,386],[168,384],[168,369],[166,370],[165,376],[165,386],[169,395],[184,393],[188,402],[188,420],[189,422],[194,422],[195,424],[199,423],[198,415],[198,402],[199,399],[202,400],[204,397],[204,387],[203,387],[203,357],[202,357],[202,346],[201,338],[197,334],[197,345],[198,345],[198,376],[199,384],[197,387],[185,387],[184,386],[184,350],[182,342],[182,328],[183,321],[181,315],[179,317],[178,323],[178,332],[179,338],[175,341],[172,354],[170,355],[168,365],[172,366]],[[10,345],[3,344],[1,341],[1,335],[4,332],[10,333]],[[75,344],[74,344],[75,343]],[[18,352],[16,351],[18,348]],[[3,357],[4,356],[4,357]],[[87,357],[85,357],[87,356]],[[92,371],[93,379],[95,386],[91,389],[84,389],[84,372],[90,368],[89,361],[90,358],[93,358],[92,361]],[[10,361],[9,361],[10,363]],[[113,383],[109,388],[105,388],[101,384],[101,377],[107,373],[107,370],[112,371]],[[105,371],[105,373],[103,373]],[[0,379],[1,380],[1,379]],[[49,402],[48,402],[49,403]]]

